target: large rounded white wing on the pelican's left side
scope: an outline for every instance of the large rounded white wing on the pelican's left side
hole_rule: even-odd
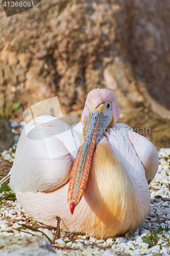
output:
[[[29,122],[18,141],[11,169],[12,190],[36,193],[65,184],[80,146],[81,130],[81,123],[72,129],[52,116]]]

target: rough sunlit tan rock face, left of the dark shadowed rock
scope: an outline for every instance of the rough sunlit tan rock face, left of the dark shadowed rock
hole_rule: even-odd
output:
[[[56,95],[70,111],[84,104],[91,89],[103,88],[104,68],[116,56],[114,14],[119,9],[114,2],[42,0],[6,18],[1,5],[3,111],[11,101],[21,101],[25,109]]]

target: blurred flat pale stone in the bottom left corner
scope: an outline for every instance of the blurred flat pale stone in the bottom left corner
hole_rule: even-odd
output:
[[[55,256],[52,245],[43,238],[0,237],[0,255],[2,256]]]

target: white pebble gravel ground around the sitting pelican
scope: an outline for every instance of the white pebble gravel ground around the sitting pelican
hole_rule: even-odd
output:
[[[7,161],[13,161],[14,151],[15,146],[2,153],[2,157]],[[134,233],[129,232],[125,237],[108,238],[105,241],[61,231],[60,239],[54,242],[56,227],[45,226],[32,220],[17,201],[6,201],[0,209],[0,236],[37,235],[44,239],[48,236],[58,255],[168,255],[170,254],[170,148],[161,148],[159,157],[158,173],[150,184],[150,211],[141,228]],[[23,224],[34,227],[37,231],[21,226]],[[155,229],[158,230],[157,233]]]

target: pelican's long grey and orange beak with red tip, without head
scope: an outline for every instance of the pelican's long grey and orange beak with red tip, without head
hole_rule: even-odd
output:
[[[75,207],[83,196],[95,147],[111,120],[112,116],[104,117],[104,114],[98,111],[92,111],[89,116],[86,116],[82,142],[72,167],[68,186],[68,204],[71,214],[74,213]]]

